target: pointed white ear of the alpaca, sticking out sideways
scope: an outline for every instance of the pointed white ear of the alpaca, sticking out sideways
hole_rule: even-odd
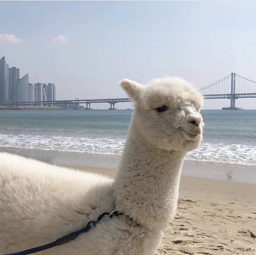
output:
[[[144,87],[141,84],[128,79],[123,79],[119,84],[127,93],[128,97],[133,101],[136,101],[144,90]]]

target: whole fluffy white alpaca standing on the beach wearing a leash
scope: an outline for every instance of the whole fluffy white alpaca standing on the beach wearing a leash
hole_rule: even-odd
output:
[[[53,242],[103,219],[75,240],[37,254],[153,255],[177,208],[186,151],[202,140],[202,95],[178,78],[123,80],[135,102],[114,181],[0,153],[0,254]]]

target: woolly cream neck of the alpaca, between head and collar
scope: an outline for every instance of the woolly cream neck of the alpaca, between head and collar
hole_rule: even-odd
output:
[[[147,228],[174,217],[184,153],[154,148],[132,122],[115,178],[118,211]]]

